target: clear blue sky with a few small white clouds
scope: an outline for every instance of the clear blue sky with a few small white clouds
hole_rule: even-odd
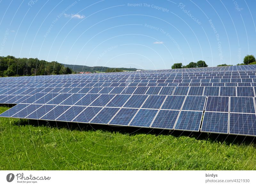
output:
[[[256,55],[256,1],[0,1],[0,56],[169,69]],[[254,18],[254,19],[253,19]]]

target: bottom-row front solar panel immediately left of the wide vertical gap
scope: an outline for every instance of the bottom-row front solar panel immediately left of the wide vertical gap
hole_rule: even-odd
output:
[[[199,131],[202,114],[203,112],[181,111],[174,129]]]

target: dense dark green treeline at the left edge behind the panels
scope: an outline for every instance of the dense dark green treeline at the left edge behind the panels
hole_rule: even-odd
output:
[[[72,70],[57,61],[37,58],[0,57],[0,76],[72,74]]]

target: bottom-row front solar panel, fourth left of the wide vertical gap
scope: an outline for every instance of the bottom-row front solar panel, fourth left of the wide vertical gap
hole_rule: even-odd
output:
[[[109,125],[128,126],[138,109],[122,108],[116,116],[109,122]]]

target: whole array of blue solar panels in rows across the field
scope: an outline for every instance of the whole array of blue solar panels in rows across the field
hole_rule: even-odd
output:
[[[256,136],[256,65],[0,78],[1,117]]]

